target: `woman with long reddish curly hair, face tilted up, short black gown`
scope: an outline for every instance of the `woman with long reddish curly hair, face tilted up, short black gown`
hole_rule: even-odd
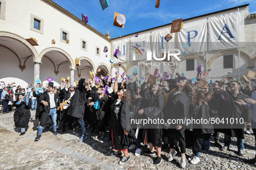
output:
[[[180,80],[176,85],[176,89],[169,95],[166,105],[168,118],[171,120],[180,120],[172,122],[168,129],[168,141],[170,154],[168,161],[172,161],[177,151],[174,150],[174,140],[179,142],[181,147],[181,167],[186,166],[186,143],[185,143],[185,128],[188,126],[189,119],[189,104],[193,100],[193,85],[190,81]]]

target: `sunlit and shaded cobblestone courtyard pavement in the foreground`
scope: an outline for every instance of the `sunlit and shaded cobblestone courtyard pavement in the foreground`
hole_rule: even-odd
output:
[[[163,161],[159,166],[153,164],[153,158],[143,153],[134,156],[135,149],[129,150],[131,157],[124,165],[119,165],[120,157],[112,157],[114,151],[112,142],[106,137],[99,141],[95,137],[97,132],[88,136],[84,142],[78,142],[80,131],[62,128],[57,130],[58,135],[53,135],[52,129],[44,129],[42,137],[34,142],[38,120],[34,119],[35,111],[31,112],[29,129],[26,134],[19,136],[20,129],[14,126],[13,113],[0,113],[0,170],[179,170],[180,154],[168,162],[168,149],[162,151]],[[108,136],[108,133],[107,135]],[[224,135],[221,134],[222,144]],[[188,163],[185,170],[255,170],[255,164],[247,164],[244,159],[255,155],[255,141],[253,135],[246,135],[245,157],[237,154],[236,140],[232,138],[230,150],[220,151],[211,141],[211,148],[202,151],[200,162],[196,165]],[[147,150],[143,145],[143,150]],[[187,157],[192,153],[187,149]]]

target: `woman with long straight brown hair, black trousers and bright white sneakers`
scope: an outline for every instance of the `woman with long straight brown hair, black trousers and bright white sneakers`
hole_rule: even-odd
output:
[[[190,106],[191,120],[203,120],[200,123],[194,123],[192,125],[192,151],[193,154],[188,158],[191,164],[197,164],[200,161],[200,153],[204,142],[204,135],[214,132],[211,121],[205,122],[204,120],[210,120],[209,106],[204,96],[204,89],[201,87],[194,88],[194,99]],[[196,121],[197,122],[197,121]]]

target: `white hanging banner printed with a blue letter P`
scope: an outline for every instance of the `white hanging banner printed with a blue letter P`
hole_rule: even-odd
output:
[[[181,53],[191,54],[207,51],[207,19],[183,24],[178,32],[178,49]]]

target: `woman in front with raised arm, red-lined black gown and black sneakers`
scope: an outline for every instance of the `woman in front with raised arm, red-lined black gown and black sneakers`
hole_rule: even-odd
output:
[[[117,98],[111,107],[110,136],[114,149],[117,150],[111,156],[122,156],[121,151],[123,151],[124,157],[119,161],[119,164],[122,165],[130,160],[127,148],[130,142],[136,140],[136,137],[133,129],[130,128],[130,110],[126,106],[126,89],[118,90],[118,76],[119,74],[116,75],[112,96],[112,98]]]

